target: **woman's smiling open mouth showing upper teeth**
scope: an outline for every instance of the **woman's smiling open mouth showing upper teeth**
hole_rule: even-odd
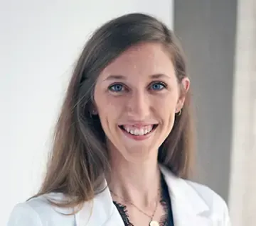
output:
[[[157,128],[157,126],[158,124],[153,124],[153,125],[145,125],[143,127],[136,128],[130,125],[119,125],[119,128],[124,132],[129,133],[130,135],[139,137],[139,136],[149,135],[149,133],[153,132]]]

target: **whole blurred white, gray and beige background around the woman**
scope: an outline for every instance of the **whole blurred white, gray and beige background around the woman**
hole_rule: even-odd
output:
[[[234,226],[256,222],[256,0],[0,1],[1,208],[41,184],[73,64],[105,21],[144,12],[187,55],[196,111],[195,181],[228,203]]]

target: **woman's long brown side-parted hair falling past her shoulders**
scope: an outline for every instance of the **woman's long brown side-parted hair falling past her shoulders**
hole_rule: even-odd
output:
[[[70,197],[65,206],[92,200],[102,191],[110,170],[105,133],[97,115],[91,115],[97,77],[110,62],[138,43],[161,43],[169,52],[178,82],[187,76],[186,64],[175,36],[156,18],[131,13],[105,23],[87,41],[75,66],[55,128],[53,150],[41,194],[60,192]],[[193,157],[190,94],[174,128],[159,147],[159,163],[187,179]]]

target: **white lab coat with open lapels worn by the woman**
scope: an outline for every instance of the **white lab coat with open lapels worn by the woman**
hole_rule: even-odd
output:
[[[227,205],[210,188],[178,179],[162,166],[161,171],[169,187],[174,226],[230,226]],[[46,196],[65,198],[61,193],[50,193],[20,203],[12,211],[7,226],[124,226],[108,188],[95,196],[93,202],[84,203],[75,215],[63,215],[70,210],[51,206]]]

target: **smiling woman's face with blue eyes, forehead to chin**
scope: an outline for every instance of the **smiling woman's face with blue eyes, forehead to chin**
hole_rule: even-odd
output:
[[[182,85],[188,90],[189,80]],[[109,151],[132,162],[157,156],[184,102],[174,65],[158,43],[117,57],[98,77],[94,96]]]

